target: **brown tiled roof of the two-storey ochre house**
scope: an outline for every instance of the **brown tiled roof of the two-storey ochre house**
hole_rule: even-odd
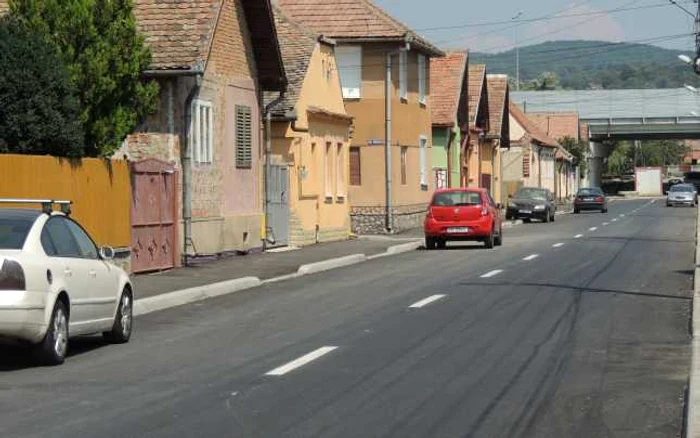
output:
[[[319,34],[338,40],[405,41],[433,56],[444,53],[371,0],[277,0],[287,15]]]

